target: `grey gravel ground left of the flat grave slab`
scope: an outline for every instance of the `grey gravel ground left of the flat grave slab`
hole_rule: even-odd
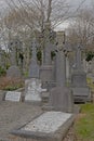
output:
[[[42,113],[29,103],[0,102],[0,139],[9,139],[10,131]]]

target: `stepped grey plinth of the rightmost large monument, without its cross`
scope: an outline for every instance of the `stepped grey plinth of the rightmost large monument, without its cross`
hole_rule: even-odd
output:
[[[75,70],[71,75],[71,88],[75,102],[91,101],[91,91],[86,86],[86,74],[82,70]]]

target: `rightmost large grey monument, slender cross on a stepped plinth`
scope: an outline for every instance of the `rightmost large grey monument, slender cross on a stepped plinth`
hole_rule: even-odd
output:
[[[75,102],[91,101],[91,91],[86,86],[86,73],[82,69],[81,49],[79,46],[76,52],[76,69],[71,74],[71,87]]]

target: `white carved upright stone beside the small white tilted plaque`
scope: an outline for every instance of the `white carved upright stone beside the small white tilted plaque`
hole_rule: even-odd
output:
[[[27,79],[25,81],[25,101],[36,103],[41,103],[41,92],[46,91],[46,89],[41,88],[41,80],[37,78]]]

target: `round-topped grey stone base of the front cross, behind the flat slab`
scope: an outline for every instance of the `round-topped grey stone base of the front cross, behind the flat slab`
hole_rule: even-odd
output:
[[[50,91],[49,104],[43,110],[62,112],[73,112],[72,91],[65,87],[56,87]]]

